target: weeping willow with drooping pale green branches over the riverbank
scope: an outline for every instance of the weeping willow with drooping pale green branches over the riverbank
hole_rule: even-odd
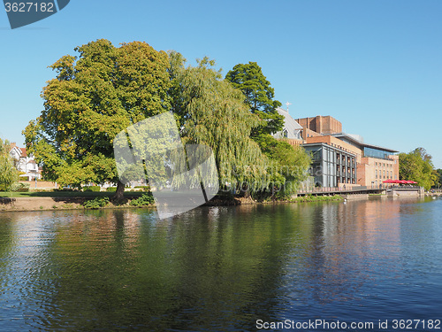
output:
[[[172,111],[179,119],[183,143],[210,146],[221,189],[245,193],[268,189],[269,160],[250,138],[260,120],[248,111],[241,91],[212,68],[213,60],[203,58],[198,66],[185,66],[179,53],[171,52],[170,58]]]

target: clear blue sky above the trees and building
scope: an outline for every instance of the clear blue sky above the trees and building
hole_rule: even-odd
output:
[[[366,143],[422,146],[442,168],[441,17],[440,0],[71,0],[11,30],[2,8],[0,137],[23,144],[47,66],[106,38],[209,56],[224,73],[255,61],[293,118],[331,115]]]

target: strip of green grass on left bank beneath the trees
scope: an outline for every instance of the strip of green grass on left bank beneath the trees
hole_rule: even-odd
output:
[[[142,191],[125,192],[125,197],[141,197]],[[27,191],[12,192],[1,191],[0,198],[18,198],[18,197],[112,197],[114,192],[94,192],[94,191]]]

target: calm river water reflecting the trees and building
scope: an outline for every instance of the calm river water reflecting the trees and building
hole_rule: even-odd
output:
[[[1,331],[313,320],[292,330],[442,329],[442,199],[0,213]]]

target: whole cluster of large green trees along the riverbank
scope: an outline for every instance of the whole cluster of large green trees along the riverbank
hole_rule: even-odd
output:
[[[306,179],[309,156],[271,136],[284,119],[256,63],[234,66],[223,78],[208,58],[187,66],[178,52],[145,42],[117,48],[98,40],[75,51],[50,66],[57,75],[42,90],[44,110],[23,131],[46,179],[77,187],[111,181],[122,197],[114,138],[169,111],[184,143],[214,151],[222,189],[286,195]]]

